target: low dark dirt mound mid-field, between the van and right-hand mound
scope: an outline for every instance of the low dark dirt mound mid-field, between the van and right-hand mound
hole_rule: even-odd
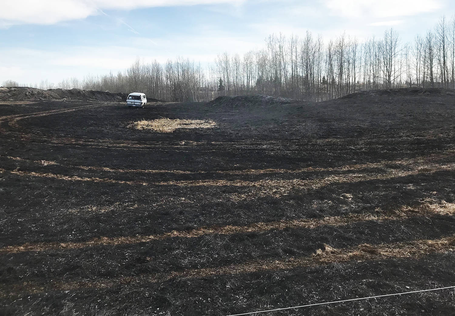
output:
[[[280,104],[294,103],[295,100],[288,97],[270,96],[267,94],[247,95],[247,96],[220,96],[215,100],[207,102],[208,105],[222,107],[255,107],[273,106]]]

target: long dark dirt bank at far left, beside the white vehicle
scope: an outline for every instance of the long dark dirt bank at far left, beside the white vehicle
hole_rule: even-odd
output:
[[[49,89],[41,90],[30,87],[0,87],[0,100],[79,100],[79,101],[126,101],[126,93],[111,93],[81,89]]]

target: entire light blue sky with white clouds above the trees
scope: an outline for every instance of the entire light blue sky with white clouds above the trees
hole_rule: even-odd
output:
[[[1,0],[1,2],[6,2]],[[15,0],[0,4],[0,84],[116,72],[136,56],[212,62],[282,32],[402,41],[455,14],[451,0]]]

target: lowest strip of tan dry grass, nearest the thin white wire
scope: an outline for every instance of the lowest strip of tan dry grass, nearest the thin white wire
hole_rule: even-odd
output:
[[[324,245],[308,257],[291,257],[286,260],[256,260],[241,264],[226,265],[216,268],[196,268],[173,271],[167,274],[142,274],[128,277],[99,278],[98,280],[79,280],[68,282],[25,282],[10,286],[10,291],[1,291],[0,296],[11,294],[31,295],[48,291],[75,291],[86,288],[106,289],[116,285],[140,285],[163,283],[172,279],[195,279],[219,275],[239,275],[273,270],[289,270],[301,267],[329,265],[349,261],[373,261],[387,259],[420,259],[425,255],[455,251],[455,235],[436,240],[415,240],[381,245],[362,244],[348,249],[335,249]]]

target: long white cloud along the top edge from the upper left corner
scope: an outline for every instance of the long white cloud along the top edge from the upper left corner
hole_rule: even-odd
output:
[[[19,24],[55,24],[84,19],[103,9],[133,10],[145,7],[176,5],[211,5],[243,0],[2,0],[0,27]]]

